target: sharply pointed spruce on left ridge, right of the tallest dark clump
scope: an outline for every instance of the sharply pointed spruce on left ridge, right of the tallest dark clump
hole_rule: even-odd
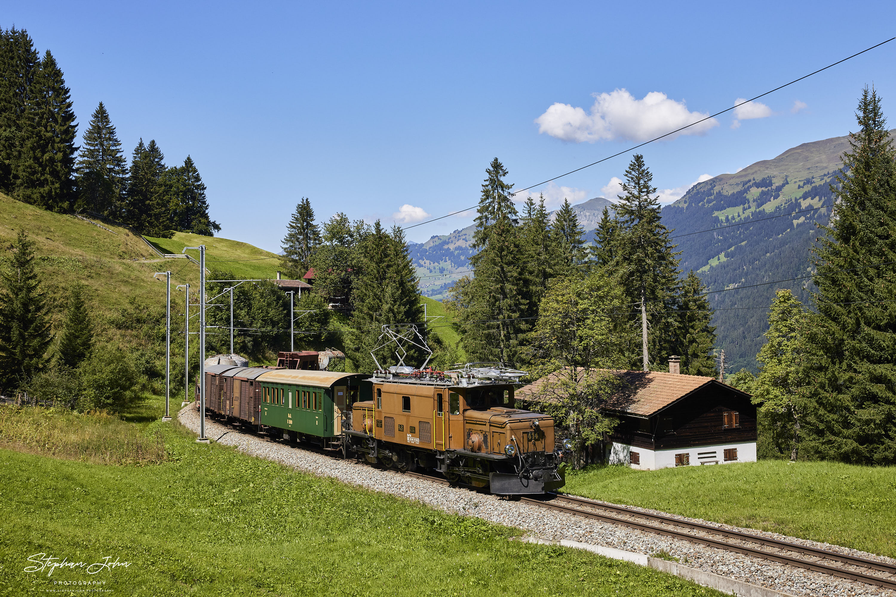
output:
[[[127,168],[121,141],[102,102],[93,111],[84,132],[76,171],[78,202],[75,207],[101,216],[121,217]]]

